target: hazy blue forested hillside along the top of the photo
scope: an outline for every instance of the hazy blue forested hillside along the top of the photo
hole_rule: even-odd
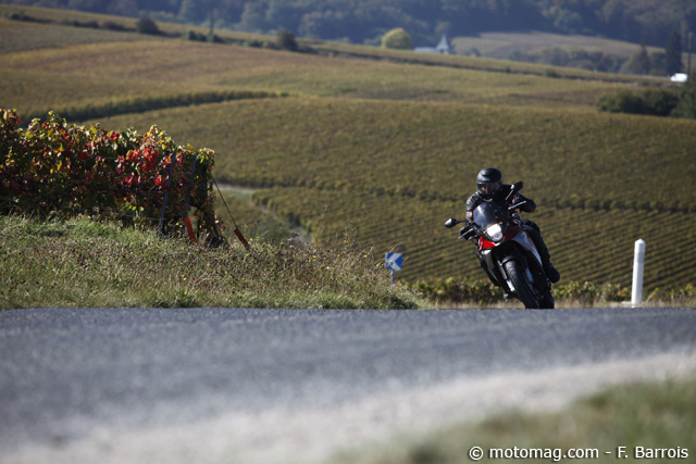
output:
[[[584,34],[663,47],[676,30],[696,30],[693,0],[0,0],[159,21],[209,24],[236,30],[380,42],[394,27],[415,45],[440,35],[545,30]]]

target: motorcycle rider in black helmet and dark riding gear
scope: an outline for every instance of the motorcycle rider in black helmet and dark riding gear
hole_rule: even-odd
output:
[[[508,198],[510,196],[511,187],[511,185],[502,184],[502,173],[499,170],[496,170],[495,167],[484,167],[481,170],[476,176],[476,191],[467,200],[467,222],[471,223],[474,210],[484,201],[493,201],[505,208],[526,201],[526,203],[520,209],[525,213],[534,212],[536,210],[536,203],[533,200],[530,200],[519,192]],[[544,243],[544,239],[542,238],[539,227],[532,221],[527,220],[522,221],[522,226],[530,237],[532,237],[534,246],[539,252],[546,276],[552,284],[556,284],[560,280],[561,276],[556,267],[554,267],[554,264],[551,264],[551,258],[548,253],[548,249],[546,248],[546,243]],[[467,227],[469,226],[464,226],[463,228]],[[469,239],[473,238],[471,233],[467,234],[464,237]]]

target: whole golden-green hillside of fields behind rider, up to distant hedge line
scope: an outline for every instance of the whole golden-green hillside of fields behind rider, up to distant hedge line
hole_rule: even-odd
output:
[[[247,189],[232,204],[247,230],[281,217],[321,247],[350,242],[377,260],[403,252],[399,277],[412,283],[483,278],[471,246],[442,225],[463,215],[476,172],[495,165],[537,201],[526,217],[542,227],[562,281],[629,285],[643,238],[648,289],[695,283],[696,122],[594,108],[621,86],[669,83],[460,57],[426,64],[347,45],[291,53],[0,23],[33,43],[0,52],[0,106],[22,115],[182,93],[287,95],[79,122],[156,124],[179,143],[212,148],[217,180]]]

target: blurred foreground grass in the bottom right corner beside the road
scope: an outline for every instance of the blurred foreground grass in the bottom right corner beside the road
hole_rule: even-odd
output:
[[[369,450],[347,451],[332,462],[471,463],[469,452],[473,447],[483,450],[481,462],[486,463],[509,461],[489,459],[488,450],[509,450],[513,455],[515,447],[519,456],[532,452],[526,450],[542,453],[542,459],[525,462],[570,461],[562,456],[571,449],[587,456],[572,460],[577,463],[693,462],[694,443],[696,379],[689,379],[612,387],[577,400],[560,412],[498,415],[427,436],[400,437]]]

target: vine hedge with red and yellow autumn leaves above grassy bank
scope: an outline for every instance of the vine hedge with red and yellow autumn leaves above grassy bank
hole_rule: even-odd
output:
[[[178,221],[187,195],[194,206],[211,205],[213,158],[211,150],[177,147],[157,126],[107,131],[49,113],[23,129],[14,111],[0,110],[0,197],[27,212],[110,209],[154,218],[169,191],[166,218]]]

